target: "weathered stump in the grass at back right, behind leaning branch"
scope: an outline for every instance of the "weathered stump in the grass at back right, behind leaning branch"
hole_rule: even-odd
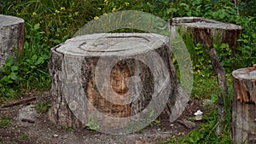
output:
[[[206,44],[208,48],[212,47],[214,39],[220,38],[220,43],[228,43],[232,52],[236,53],[241,26],[201,17],[173,18],[170,22],[174,29],[182,26],[188,28],[193,38],[199,43]]]

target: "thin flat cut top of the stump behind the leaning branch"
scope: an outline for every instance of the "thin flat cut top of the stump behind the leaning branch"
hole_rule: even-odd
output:
[[[201,17],[173,18],[172,25],[183,25],[183,26],[190,26],[190,27],[214,28],[214,29],[224,29],[224,30],[241,30],[241,26],[224,23],[217,20],[207,20]]]

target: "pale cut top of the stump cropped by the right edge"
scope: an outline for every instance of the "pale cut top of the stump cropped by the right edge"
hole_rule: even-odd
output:
[[[253,67],[241,68],[232,72],[234,78],[256,80],[256,64]]]

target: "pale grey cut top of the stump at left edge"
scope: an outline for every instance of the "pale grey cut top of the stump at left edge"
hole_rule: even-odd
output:
[[[15,16],[0,14],[0,27],[16,25],[16,24],[19,24],[19,23],[24,23],[24,20],[20,19],[18,17],[15,17]]]

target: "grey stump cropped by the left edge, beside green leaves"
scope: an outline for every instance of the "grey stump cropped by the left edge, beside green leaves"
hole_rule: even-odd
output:
[[[15,56],[24,43],[24,20],[0,14],[0,67],[9,56]]]

